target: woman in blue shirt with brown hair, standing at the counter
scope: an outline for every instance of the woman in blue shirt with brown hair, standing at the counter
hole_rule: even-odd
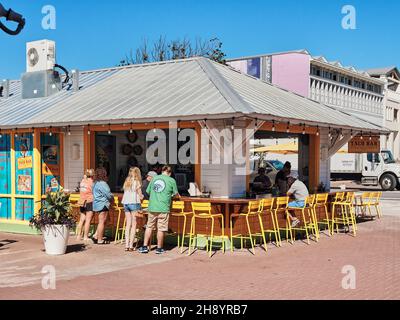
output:
[[[107,243],[103,240],[104,227],[107,221],[113,195],[107,184],[107,173],[103,168],[96,169],[95,182],[93,185],[93,212],[99,215],[99,224],[96,233],[93,235],[93,242],[97,244]]]

